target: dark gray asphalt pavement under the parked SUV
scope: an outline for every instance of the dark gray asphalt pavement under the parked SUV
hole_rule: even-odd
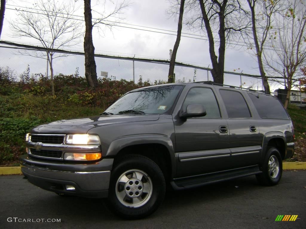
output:
[[[170,191],[161,207],[141,220],[122,220],[103,200],[58,196],[22,177],[0,176],[2,229],[306,228],[305,170],[283,171],[281,182],[273,187],[260,186],[255,176],[250,176]],[[298,216],[294,222],[275,221],[278,215]]]

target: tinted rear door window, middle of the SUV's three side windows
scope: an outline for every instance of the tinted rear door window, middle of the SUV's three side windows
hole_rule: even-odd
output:
[[[251,117],[248,105],[239,92],[220,89],[220,94],[224,101],[229,118]]]

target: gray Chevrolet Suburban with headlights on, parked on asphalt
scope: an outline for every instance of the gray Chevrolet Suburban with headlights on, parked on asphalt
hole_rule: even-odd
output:
[[[278,184],[294,152],[292,122],[274,96],[213,82],[136,89],[99,116],[36,126],[26,143],[29,182],[107,197],[129,219],[153,213],[166,184],[180,190],[249,175]]]

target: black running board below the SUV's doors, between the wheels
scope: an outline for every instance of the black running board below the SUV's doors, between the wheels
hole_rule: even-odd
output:
[[[181,190],[212,184],[215,182],[231,180],[238,177],[251,176],[259,173],[262,173],[262,171],[259,170],[259,167],[252,166],[241,169],[227,170],[223,172],[208,173],[196,177],[178,178],[174,181],[171,181],[170,183],[175,190]]]

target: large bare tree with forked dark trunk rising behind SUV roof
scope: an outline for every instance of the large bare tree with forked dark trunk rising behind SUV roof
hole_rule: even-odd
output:
[[[223,83],[225,48],[229,40],[249,27],[246,11],[238,0],[190,0],[186,2],[189,15],[187,24],[193,29],[204,31],[208,37],[211,58],[211,75],[216,83]],[[197,11],[200,9],[200,13]],[[193,11],[192,13],[190,13]],[[236,38],[237,39],[237,38]],[[216,53],[216,47],[218,53]],[[217,55],[218,56],[217,56]]]

